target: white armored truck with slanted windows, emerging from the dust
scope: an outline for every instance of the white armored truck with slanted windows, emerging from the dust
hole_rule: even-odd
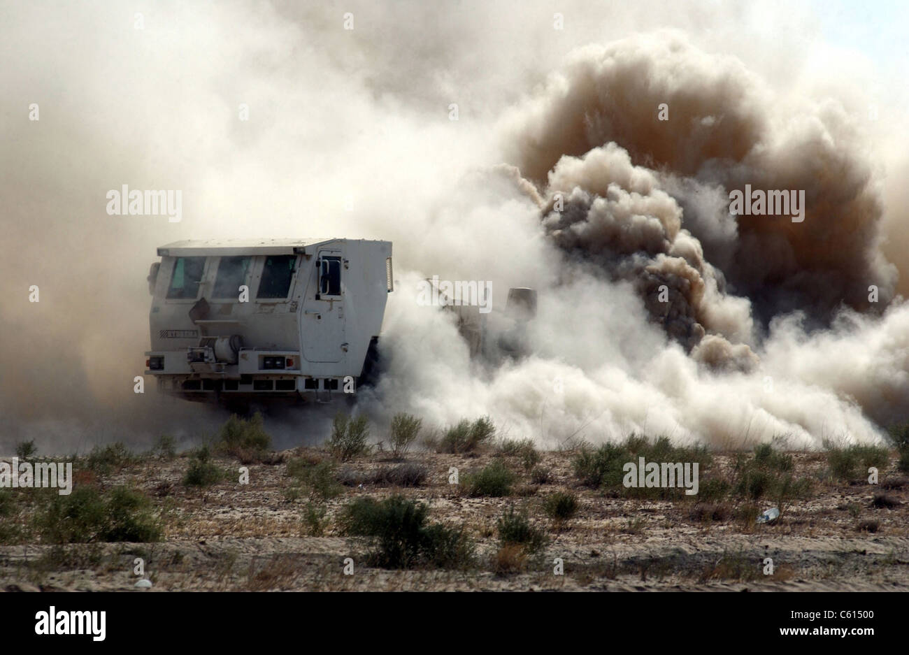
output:
[[[373,372],[391,242],[182,241],[158,255],[145,374],[160,392],[248,408],[355,392]]]

